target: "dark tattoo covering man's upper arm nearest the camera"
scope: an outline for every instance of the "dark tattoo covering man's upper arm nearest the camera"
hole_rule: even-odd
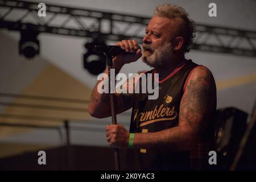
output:
[[[209,112],[212,109],[214,89],[211,88],[213,77],[207,68],[199,68],[202,73],[196,78],[191,78],[187,85],[186,93],[182,98],[180,118],[187,121],[194,131],[201,132],[209,119]]]

